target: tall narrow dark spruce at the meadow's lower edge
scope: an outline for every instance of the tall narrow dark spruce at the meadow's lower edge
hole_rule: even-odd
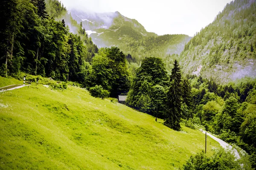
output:
[[[182,86],[180,68],[175,59],[174,68],[172,68],[172,75],[170,76],[171,86],[167,94],[167,108],[166,118],[164,124],[174,130],[180,130],[180,119],[182,117],[181,98]]]

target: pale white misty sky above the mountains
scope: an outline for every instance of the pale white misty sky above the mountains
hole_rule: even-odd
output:
[[[61,0],[67,9],[115,12],[136,19],[149,32],[193,36],[231,0]]]

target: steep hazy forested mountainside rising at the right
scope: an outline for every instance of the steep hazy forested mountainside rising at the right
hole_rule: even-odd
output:
[[[228,82],[256,77],[256,0],[234,0],[180,54],[184,73]]]

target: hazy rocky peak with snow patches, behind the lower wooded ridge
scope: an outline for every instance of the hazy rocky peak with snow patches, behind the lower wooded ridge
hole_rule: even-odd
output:
[[[147,32],[137,20],[127,18],[118,11],[86,13],[73,9],[70,12],[75,20],[82,22],[87,34],[99,47],[118,45],[123,37],[138,40],[143,36],[157,36]]]

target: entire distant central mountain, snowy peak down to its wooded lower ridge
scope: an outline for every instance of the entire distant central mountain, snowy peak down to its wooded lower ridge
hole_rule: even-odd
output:
[[[125,54],[131,54],[132,62],[140,64],[145,57],[160,57],[169,68],[170,55],[180,54],[191,37],[184,34],[162,35],[148,32],[134,19],[114,13],[90,14],[71,10],[72,17],[82,22],[87,34],[99,47],[117,46]],[[169,69],[168,69],[169,70]]]

